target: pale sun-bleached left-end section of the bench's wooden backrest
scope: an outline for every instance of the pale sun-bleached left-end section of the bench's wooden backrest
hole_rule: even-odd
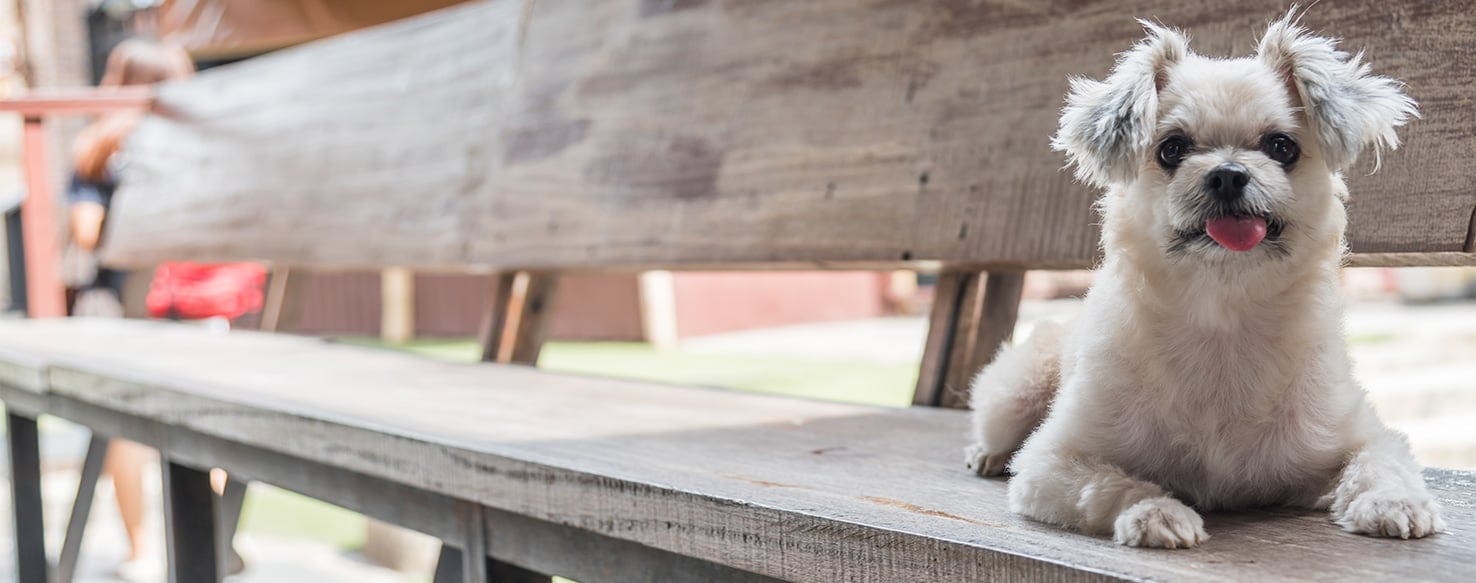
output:
[[[500,158],[521,13],[469,3],[161,87],[162,114],[130,136],[140,165],[112,207],[108,257],[463,263]],[[148,224],[164,215],[174,229]]]

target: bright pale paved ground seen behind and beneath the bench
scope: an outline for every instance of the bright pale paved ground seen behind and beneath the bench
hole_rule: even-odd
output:
[[[1039,319],[1067,319],[1076,301],[1027,303],[1018,335]],[[1421,460],[1429,465],[1476,469],[1476,304],[1405,306],[1359,303],[1351,308],[1358,373],[1371,399],[1395,427],[1407,431]],[[865,359],[911,363],[921,356],[925,322],[920,317],[838,322],[728,334],[683,342],[682,351],[744,353],[793,357]],[[43,438],[47,515],[65,517],[86,434],[47,427]],[[154,484],[156,491],[158,484]],[[0,512],[9,511],[9,490],[0,489]],[[84,543],[78,582],[118,582],[115,568],[124,556],[121,527],[106,480],[99,487],[90,536]],[[151,497],[155,500],[156,497]],[[10,579],[10,521],[0,517],[0,580]],[[50,528],[56,536],[61,524]],[[155,540],[158,524],[154,524]],[[50,548],[59,540],[50,540]],[[156,549],[162,545],[156,545]],[[400,574],[370,565],[356,553],[291,536],[244,534],[238,548],[246,556],[245,573],[230,582],[404,582],[425,574]],[[154,576],[136,580],[156,582]]]

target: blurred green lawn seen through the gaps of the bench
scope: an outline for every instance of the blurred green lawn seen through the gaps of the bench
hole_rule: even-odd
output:
[[[384,347],[373,338],[342,341]],[[469,339],[418,339],[393,348],[450,362],[475,362],[478,356],[477,344]],[[906,406],[917,382],[915,363],[700,354],[655,350],[639,342],[549,342],[539,368],[881,406]],[[306,537],[345,551],[359,549],[365,542],[362,515],[272,487],[251,489],[241,530]]]

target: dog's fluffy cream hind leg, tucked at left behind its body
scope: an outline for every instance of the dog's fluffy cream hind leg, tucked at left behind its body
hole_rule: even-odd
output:
[[[995,362],[974,376],[968,406],[974,410],[968,468],[999,475],[1024,438],[1051,409],[1061,378],[1061,335],[1055,322],[1041,322],[1020,345],[1004,345]]]

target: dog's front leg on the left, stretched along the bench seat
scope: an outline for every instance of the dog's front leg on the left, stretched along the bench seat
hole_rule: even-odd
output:
[[[1048,447],[1020,456],[1010,480],[1013,512],[1085,533],[1111,533],[1128,546],[1187,549],[1209,540],[1194,509],[1111,463]]]

